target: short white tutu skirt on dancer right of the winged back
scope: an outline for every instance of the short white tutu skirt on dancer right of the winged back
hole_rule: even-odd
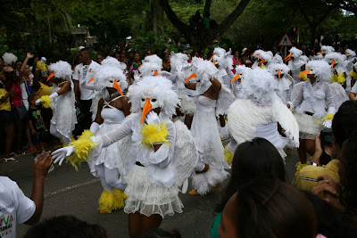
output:
[[[300,138],[315,140],[322,127],[321,119],[314,118],[307,114],[295,113],[295,119],[299,124]]]

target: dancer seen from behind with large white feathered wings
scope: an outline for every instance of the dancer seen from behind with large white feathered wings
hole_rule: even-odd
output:
[[[239,144],[262,137],[270,141],[282,158],[284,147],[299,146],[299,129],[296,119],[286,104],[274,92],[274,79],[268,70],[251,70],[242,81],[245,99],[237,99],[228,109],[228,129],[232,140],[225,151],[226,160],[231,162]],[[285,130],[286,137],[279,135],[278,124]]]

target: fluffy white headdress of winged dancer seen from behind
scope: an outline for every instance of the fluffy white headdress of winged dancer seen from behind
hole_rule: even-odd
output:
[[[274,95],[273,79],[268,70],[250,70],[242,81],[243,94],[258,105],[271,105]]]

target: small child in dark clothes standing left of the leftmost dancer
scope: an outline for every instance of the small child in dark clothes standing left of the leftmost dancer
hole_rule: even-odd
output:
[[[37,100],[37,96],[35,94],[29,94],[29,129],[31,131],[31,141],[33,144],[33,151],[36,152],[36,146],[39,145],[41,151],[44,151],[44,144],[42,143],[42,139],[44,137],[44,131],[46,130],[46,126],[44,123],[44,119],[41,116],[41,108],[37,107],[35,104]]]

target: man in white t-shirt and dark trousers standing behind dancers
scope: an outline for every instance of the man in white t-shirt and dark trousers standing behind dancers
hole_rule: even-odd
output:
[[[79,51],[79,65],[76,66],[73,73],[74,82],[74,94],[76,102],[79,103],[79,109],[82,114],[82,118],[79,119],[79,134],[84,129],[89,129],[92,124],[92,112],[90,111],[92,106],[92,99],[95,96],[94,90],[85,88],[81,85],[84,81],[86,84],[91,78],[94,77],[95,71],[99,69],[100,64],[91,60],[91,52],[87,48],[83,48]],[[88,85],[93,85],[92,80]],[[79,98],[80,93],[80,98]]]

